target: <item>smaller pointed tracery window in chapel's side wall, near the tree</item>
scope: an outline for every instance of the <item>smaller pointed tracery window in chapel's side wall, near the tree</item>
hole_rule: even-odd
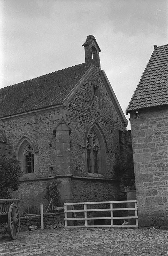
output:
[[[25,172],[34,172],[34,153],[30,144],[27,144],[24,149],[23,160],[23,164],[25,163]]]

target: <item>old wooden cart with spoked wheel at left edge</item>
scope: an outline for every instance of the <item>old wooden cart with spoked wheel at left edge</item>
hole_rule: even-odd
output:
[[[17,239],[20,228],[18,204],[22,199],[0,199],[0,221],[8,222],[9,235],[12,240]]]

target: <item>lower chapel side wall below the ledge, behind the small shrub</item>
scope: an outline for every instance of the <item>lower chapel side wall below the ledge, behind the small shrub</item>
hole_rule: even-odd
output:
[[[17,191],[11,191],[12,198],[21,198],[19,203],[20,213],[26,214],[28,212],[29,203],[29,213],[40,213],[40,205],[43,204],[44,211],[49,205],[49,201],[45,199],[46,186],[53,181],[59,181],[58,184],[58,204],[54,206],[63,206],[64,203],[69,202],[72,197],[71,188],[71,176],[70,177],[58,177],[41,180],[27,180],[21,181],[19,189]],[[71,202],[71,200],[70,200]]]

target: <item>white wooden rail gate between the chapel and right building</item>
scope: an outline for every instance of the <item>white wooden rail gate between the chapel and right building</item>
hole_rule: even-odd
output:
[[[134,204],[133,208],[114,208],[114,204],[120,204],[120,203],[128,203]],[[109,204],[110,208],[98,208],[98,209],[88,209],[87,205],[98,205],[98,204]],[[84,209],[75,210],[74,205],[83,205]],[[129,206],[129,205],[127,205]],[[71,210],[68,210],[67,208],[71,208]],[[104,211],[110,211],[110,217],[88,217],[88,212],[104,212]],[[122,217],[114,217],[115,211],[135,211],[134,216],[122,216]],[[68,213],[74,213],[74,216],[76,212],[84,212],[84,217],[67,217]],[[64,204],[64,214],[65,214],[65,228],[95,228],[95,227],[138,227],[138,215],[137,215],[137,204],[136,200],[129,200],[129,201],[104,201],[104,202],[84,202],[84,203],[65,203]],[[128,224],[128,225],[114,225],[113,220],[115,219],[135,219],[136,224]],[[68,220],[70,221],[78,221],[78,220],[84,220],[85,225],[68,225]],[[88,225],[88,220],[111,220],[111,225]]]

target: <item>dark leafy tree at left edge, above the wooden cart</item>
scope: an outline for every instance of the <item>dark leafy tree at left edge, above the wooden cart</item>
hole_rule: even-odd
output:
[[[0,198],[10,199],[9,190],[19,188],[19,177],[23,174],[20,163],[14,159],[0,154]]]

